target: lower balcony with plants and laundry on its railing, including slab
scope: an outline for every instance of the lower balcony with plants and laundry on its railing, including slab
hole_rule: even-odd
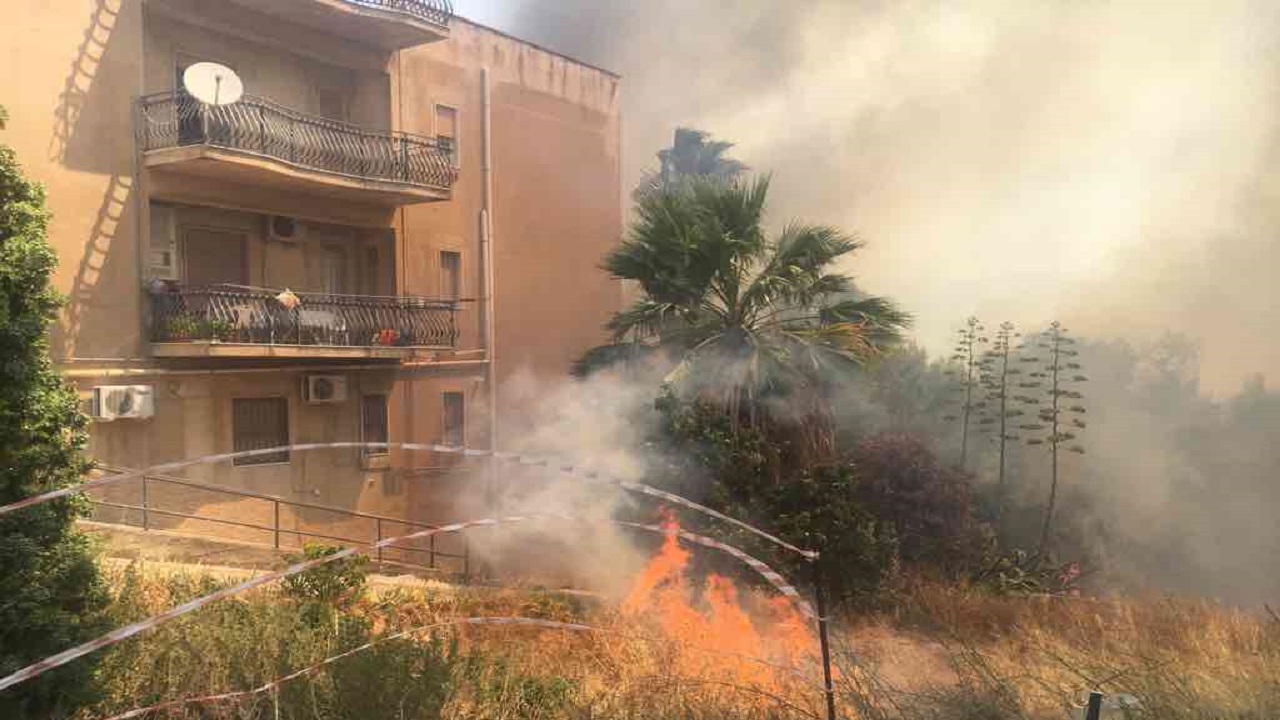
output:
[[[402,359],[457,347],[458,302],[165,283],[151,342],[156,357]]]

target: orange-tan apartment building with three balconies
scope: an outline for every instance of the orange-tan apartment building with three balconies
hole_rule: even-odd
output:
[[[617,76],[447,0],[9,0],[3,19],[4,141],[49,191],[55,355],[104,465],[488,447],[495,388],[603,340]],[[233,69],[241,100],[187,94],[196,63]],[[184,473],[422,519],[442,497],[416,480],[447,461]]]

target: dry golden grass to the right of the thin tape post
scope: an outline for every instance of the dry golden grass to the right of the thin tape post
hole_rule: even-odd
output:
[[[914,638],[932,659],[897,655],[877,682],[849,688],[854,705],[883,717],[928,717],[922,705],[960,701],[982,708],[973,717],[1073,717],[1093,689],[1137,697],[1134,717],[1280,717],[1280,623],[1266,614],[1164,597],[996,597],[920,584],[895,611],[863,619],[845,647],[859,647],[868,626]],[[895,673],[910,680],[895,682]],[[911,712],[895,715],[895,705]]]

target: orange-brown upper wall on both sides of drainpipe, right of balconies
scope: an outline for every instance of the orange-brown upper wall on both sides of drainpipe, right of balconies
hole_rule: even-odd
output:
[[[453,201],[404,211],[404,287],[429,291],[433,252],[460,247],[480,283],[481,68],[493,97],[499,380],[563,377],[604,340],[621,287],[599,269],[618,242],[620,81],[481,26],[456,20],[448,42],[404,50],[393,65],[399,127],[430,135],[434,106],[458,109],[462,179]]]

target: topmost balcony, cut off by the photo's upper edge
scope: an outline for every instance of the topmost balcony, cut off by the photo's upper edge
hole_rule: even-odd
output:
[[[234,0],[314,29],[399,50],[449,37],[449,0]]]

